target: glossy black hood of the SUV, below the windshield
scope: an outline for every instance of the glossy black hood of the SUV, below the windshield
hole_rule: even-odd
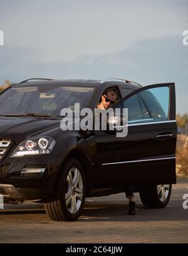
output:
[[[20,142],[31,136],[47,132],[48,135],[55,127],[60,127],[61,120],[34,117],[1,117],[0,138],[10,138],[13,143]]]

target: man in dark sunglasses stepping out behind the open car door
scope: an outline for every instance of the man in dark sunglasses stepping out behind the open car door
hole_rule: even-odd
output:
[[[107,89],[103,92],[101,103],[97,105],[97,108],[99,109],[108,109],[110,106],[115,104],[115,101],[117,99],[117,93],[113,89]],[[135,201],[134,201],[134,195],[133,195],[133,188],[132,186],[125,186],[123,187],[126,197],[129,200],[128,204],[128,214],[134,215],[136,214],[135,211]]]

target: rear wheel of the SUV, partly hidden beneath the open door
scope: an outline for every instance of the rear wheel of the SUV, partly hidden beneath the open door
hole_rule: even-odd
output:
[[[170,200],[172,184],[145,187],[140,190],[140,199],[147,208],[164,208]]]

